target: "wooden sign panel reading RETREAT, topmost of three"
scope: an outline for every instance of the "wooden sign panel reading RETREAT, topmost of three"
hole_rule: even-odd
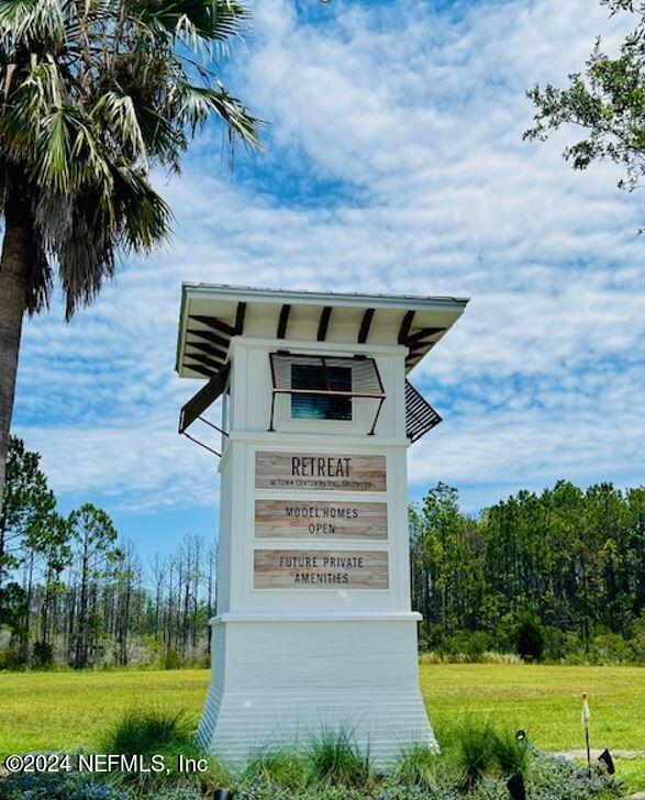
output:
[[[256,489],[385,491],[386,457],[336,453],[256,453]]]

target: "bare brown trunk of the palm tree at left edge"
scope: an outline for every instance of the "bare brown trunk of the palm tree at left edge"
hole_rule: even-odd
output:
[[[0,257],[0,515],[26,302],[31,235],[29,207],[18,191],[10,189],[4,207],[4,240]]]

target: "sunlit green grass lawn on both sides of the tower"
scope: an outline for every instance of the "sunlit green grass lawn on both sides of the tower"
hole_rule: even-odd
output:
[[[0,758],[98,746],[102,731],[132,705],[184,709],[197,723],[208,681],[205,669],[0,673]],[[645,748],[645,669],[637,667],[422,665],[421,688],[440,741],[457,714],[469,713],[523,727],[545,749],[582,747],[587,691],[592,746]],[[632,788],[645,788],[645,759],[624,762],[620,771]]]

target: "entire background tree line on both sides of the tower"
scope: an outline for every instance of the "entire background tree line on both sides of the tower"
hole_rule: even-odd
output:
[[[11,438],[0,515],[0,669],[207,665],[215,542],[142,560],[105,511],[59,513],[37,453]],[[420,646],[441,657],[645,663],[645,487],[558,481],[477,518],[456,489],[410,507]]]

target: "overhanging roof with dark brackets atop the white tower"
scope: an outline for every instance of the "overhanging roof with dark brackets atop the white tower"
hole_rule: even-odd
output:
[[[362,292],[292,291],[221,284],[181,286],[177,371],[214,375],[229,358],[231,338],[403,345],[407,371],[461,315],[468,298]]]

